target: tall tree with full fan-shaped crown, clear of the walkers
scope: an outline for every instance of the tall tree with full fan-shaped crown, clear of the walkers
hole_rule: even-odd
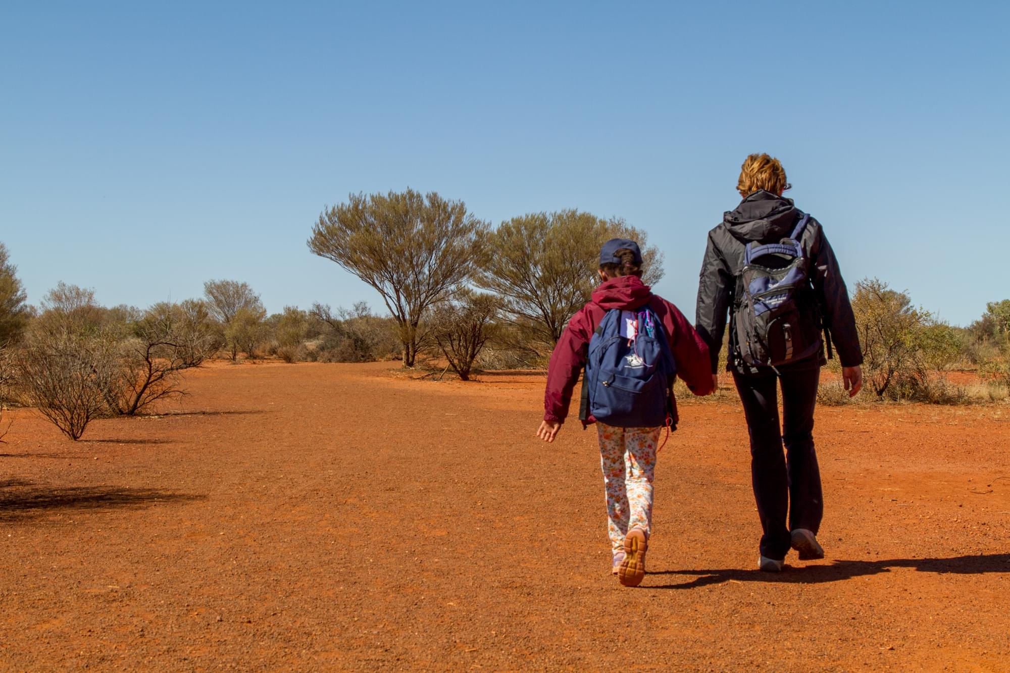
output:
[[[374,287],[396,320],[403,365],[413,367],[421,319],[483,258],[488,224],[434,192],[350,194],[319,215],[309,250]]]

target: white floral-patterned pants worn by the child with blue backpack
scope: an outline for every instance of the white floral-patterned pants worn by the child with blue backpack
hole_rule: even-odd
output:
[[[600,467],[607,491],[607,535],[614,554],[635,525],[651,533],[652,474],[663,427],[615,427],[597,421]]]

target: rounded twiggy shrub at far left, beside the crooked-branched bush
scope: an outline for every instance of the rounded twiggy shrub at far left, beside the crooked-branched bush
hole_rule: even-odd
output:
[[[33,406],[71,440],[106,413],[99,381],[109,376],[115,358],[97,338],[66,332],[35,335],[15,356],[15,375],[23,402]]]

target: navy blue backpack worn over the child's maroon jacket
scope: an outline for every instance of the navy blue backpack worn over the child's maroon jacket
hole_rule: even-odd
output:
[[[622,311],[607,311],[589,342],[583,387],[589,391],[588,411],[597,420],[618,427],[668,424],[670,395],[677,364],[663,323],[648,308],[634,313],[637,336],[620,333]]]

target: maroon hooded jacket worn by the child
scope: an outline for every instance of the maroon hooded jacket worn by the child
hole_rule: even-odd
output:
[[[543,419],[564,422],[568,416],[572,391],[589,355],[589,340],[613,308],[637,310],[648,307],[663,321],[670,339],[670,349],[677,361],[677,375],[684,379],[696,395],[712,392],[712,369],[708,347],[672,303],[654,295],[637,276],[618,276],[606,281],[593,292],[593,300],[572,316],[562,338],[550,355],[547,368],[547,390],[543,395]],[[594,419],[590,418],[589,422]],[[677,402],[674,402],[674,423],[677,423]]]

